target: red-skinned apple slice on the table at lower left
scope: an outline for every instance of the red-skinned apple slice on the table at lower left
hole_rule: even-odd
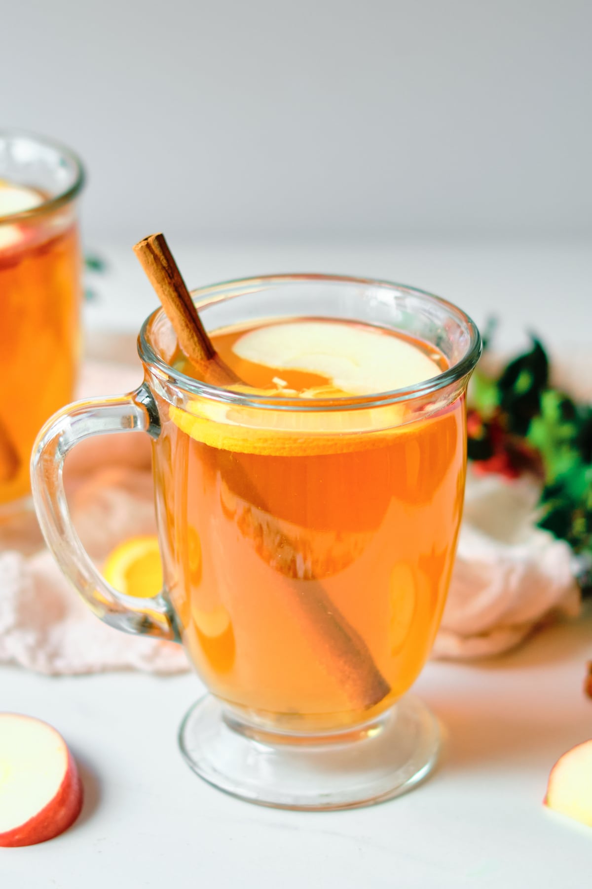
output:
[[[83,785],[61,735],[38,719],[0,713],[0,846],[57,837],[82,806]]]

